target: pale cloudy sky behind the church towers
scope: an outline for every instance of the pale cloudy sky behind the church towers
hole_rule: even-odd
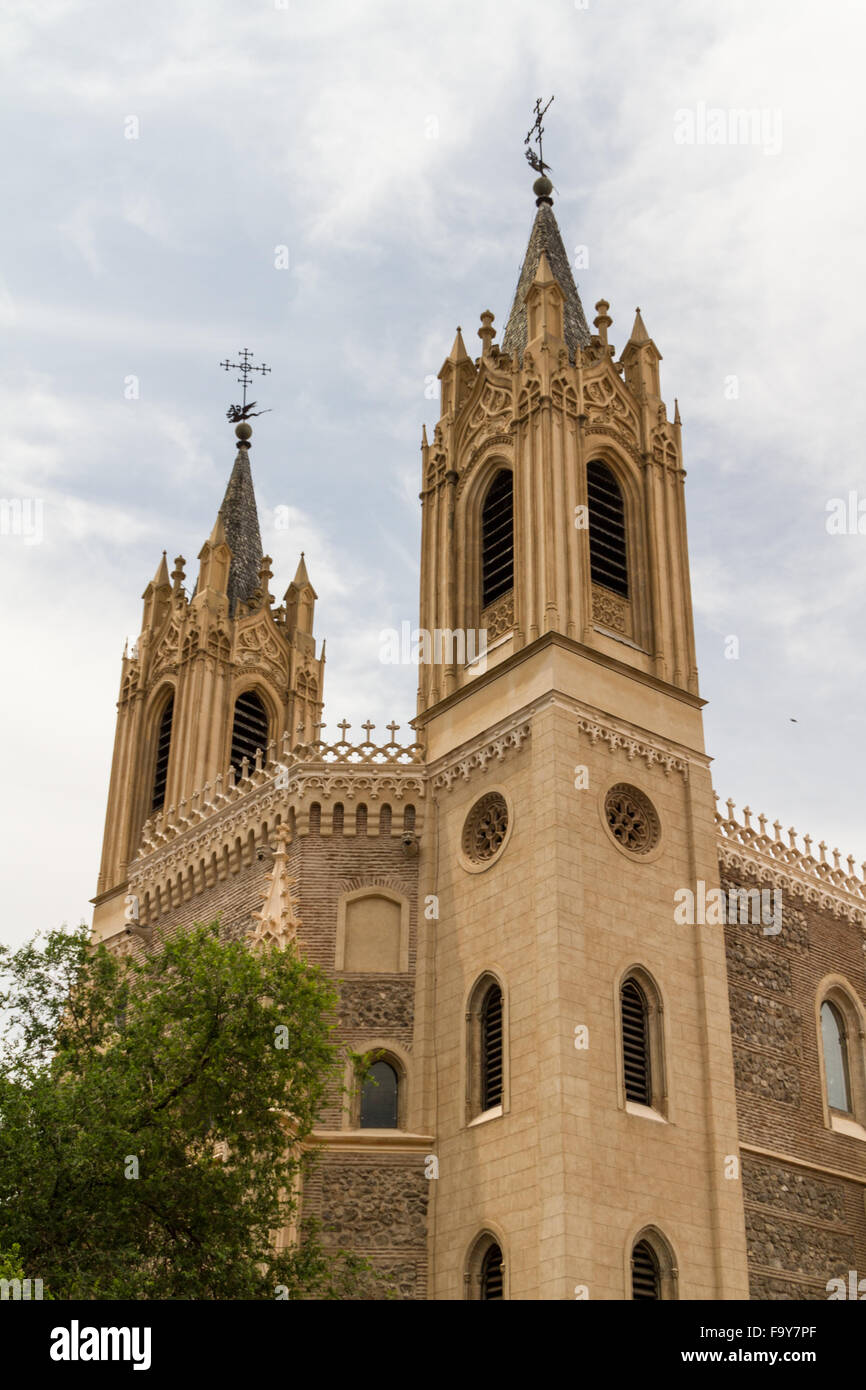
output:
[[[124,639],[163,548],[195,577],[243,346],[272,367],[263,539],[278,595],[306,550],[325,717],[413,716],[378,634],[416,621],[430,379],[457,324],[502,331],[552,92],[587,317],[610,300],[620,350],[639,304],[680,399],[714,785],[866,858],[866,535],[827,531],[866,499],[865,31],[842,0],[7,0],[7,940],[90,916]]]

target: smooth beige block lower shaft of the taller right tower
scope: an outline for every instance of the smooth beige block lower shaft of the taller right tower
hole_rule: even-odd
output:
[[[531,723],[520,748],[434,792],[434,1297],[463,1297],[467,1251],[485,1229],[500,1238],[506,1297],[573,1300],[578,1284],[591,1298],[630,1297],[631,1243],[646,1225],[670,1243],[681,1298],[744,1297],[742,1197],[724,1180],[737,1125],[723,938],[674,923],[676,890],[717,872],[705,760],[594,721],[566,696],[520,717]],[[467,767],[471,751],[459,751]],[[588,770],[585,790],[577,767]],[[431,774],[435,788],[436,766]],[[620,781],[656,808],[657,855],[613,842],[603,798]],[[463,826],[491,787],[513,805],[512,837],[492,867],[467,873]],[[667,1113],[655,1119],[628,1111],[621,1090],[619,983],[632,965],[663,999]],[[506,994],[507,1091],[500,1116],[473,1125],[464,1019],[484,970]],[[582,1052],[578,1024],[589,1036]]]

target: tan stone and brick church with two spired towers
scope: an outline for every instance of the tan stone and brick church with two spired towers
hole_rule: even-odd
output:
[[[239,418],[124,655],[93,938],[221,915],[328,972],[378,1061],[300,1219],[399,1298],[824,1300],[866,1275],[866,883],[713,792],[680,413],[552,192],[439,373],[411,723],[321,737],[314,557],[277,603]]]

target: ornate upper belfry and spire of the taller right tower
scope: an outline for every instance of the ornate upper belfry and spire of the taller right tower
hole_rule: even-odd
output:
[[[560,632],[695,695],[681,423],[660,396],[662,354],[638,310],[614,361],[606,300],[589,334],[550,199],[538,203],[502,348],[488,310],[481,357],[457,329],[439,373],[421,448],[420,626],[487,631],[496,663]],[[507,496],[485,512],[491,492]],[[506,532],[513,562],[496,546]],[[491,567],[513,581],[503,592]],[[473,680],[455,645],[431,644],[421,713]]]

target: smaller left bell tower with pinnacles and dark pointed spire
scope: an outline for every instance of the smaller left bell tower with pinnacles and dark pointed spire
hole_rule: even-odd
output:
[[[196,794],[246,776],[275,746],[314,739],[321,721],[325,657],[324,646],[316,655],[316,589],[302,555],[274,606],[246,418],[235,434],[235,464],[192,594],[183,556],[170,578],[163,552],[143,594],[140,637],[124,652],[93,899],[97,941],[122,930],[128,867],[146,826],[168,813],[183,817]]]

